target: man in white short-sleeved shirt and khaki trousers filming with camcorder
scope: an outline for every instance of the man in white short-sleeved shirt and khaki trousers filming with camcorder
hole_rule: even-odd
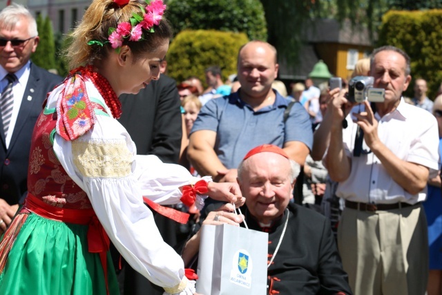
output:
[[[437,124],[402,98],[412,79],[410,57],[402,50],[374,50],[371,75],[374,91],[385,90],[385,99],[372,93],[370,104],[373,89],[366,89],[365,112],[346,119],[360,102],[354,84],[354,93],[340,91],[330,106],[325,164],[339,182],[336,195],[345,199],[338,248],[354,294],[425,294],[427,222],[421,202],[428,176],[438,170]],[[369,88],[366,78],[359,82]]]

